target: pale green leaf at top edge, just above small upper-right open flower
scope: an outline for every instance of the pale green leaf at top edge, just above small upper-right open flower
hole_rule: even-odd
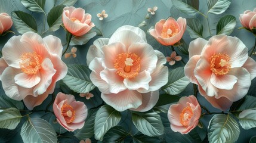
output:
[[[196,8],[193,8],[191,5],[186,4],[183,1],[179,0],[172,0],[172,4],[178,8],[181,12],[184,14],[190,15],[190,16],[195,16],[196,14],[200,13]],[[202,14],[202,13],[200,13]]]

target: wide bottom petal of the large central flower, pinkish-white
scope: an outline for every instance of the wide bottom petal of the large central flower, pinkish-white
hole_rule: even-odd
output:
[[[118,111],[124,111],[129,108],[138,108],[142,104],[142,95],[137,91],[125,90],[118,94],[103,94],[101,98],[106,104]]]

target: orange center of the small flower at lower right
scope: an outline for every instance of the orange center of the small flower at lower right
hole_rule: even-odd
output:
[[[193,110],[190,106],[184,108],[180,113],[180,123],[183,126],[189,126],[189,121],[193,116]]]

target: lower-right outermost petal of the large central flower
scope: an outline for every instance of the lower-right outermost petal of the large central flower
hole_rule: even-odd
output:
[[[131,108],[133,111],[145,112],[152,109],[158,102],[159,91],[148,92],[142,95],[142,104],[138,108]]]

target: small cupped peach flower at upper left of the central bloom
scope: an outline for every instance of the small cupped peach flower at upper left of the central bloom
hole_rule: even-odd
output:
[[[85,35],[94,27],[91,14],[85,14],[82,8],[64,7],[62,20],[64,27],[75,36]]]

